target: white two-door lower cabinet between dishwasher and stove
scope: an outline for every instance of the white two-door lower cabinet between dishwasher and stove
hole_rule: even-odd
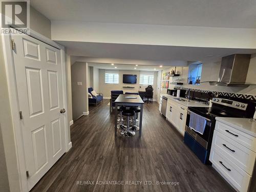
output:
[[[183,136],[185,133],[186,118],[187,109],[184,106],[174,101],[167,101],[166,119],[171,122]]]

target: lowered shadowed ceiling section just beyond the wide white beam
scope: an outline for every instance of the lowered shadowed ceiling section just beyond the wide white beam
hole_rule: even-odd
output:
[[[252,54],[256,49],[200,48],[133,44],[108,44],[98,42],[57,41],[67,48],[69,55],[98,58],[119,58],[161,61],[219,61],[234,53]]]

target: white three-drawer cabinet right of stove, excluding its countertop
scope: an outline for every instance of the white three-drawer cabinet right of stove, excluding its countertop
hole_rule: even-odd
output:
[[[217,120],[212,138],[210,161],[234,189],[247,192],[256,153],[252,151],[254,148],[248,147],[249,145],[245,142],[252,136],[240,132]],[[243,138],[246,138],[245,141],[238,140]]]

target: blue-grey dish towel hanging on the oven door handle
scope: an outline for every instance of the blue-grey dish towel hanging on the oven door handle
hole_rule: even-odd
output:
[[[204,134],[206,119],[196,113],[190,112],[189,127],[194,131]]]

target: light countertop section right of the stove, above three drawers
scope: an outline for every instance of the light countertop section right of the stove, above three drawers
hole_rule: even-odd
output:
[[[250,121],[248,118],[216,117],[216,120],[256,137],[256,122]]]

